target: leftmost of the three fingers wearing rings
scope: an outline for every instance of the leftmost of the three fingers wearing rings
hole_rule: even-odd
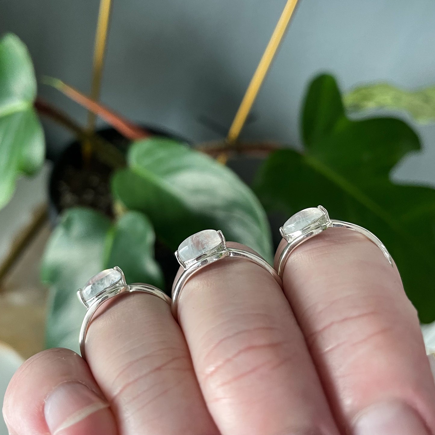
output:
[[[181,329],[170,306],[151,294],[102,305],[86,355],[123,435],[214,435]]]

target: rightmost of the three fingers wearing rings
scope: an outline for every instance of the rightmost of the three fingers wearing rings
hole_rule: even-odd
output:
[[[346,429],[435,433],[435,388],[417,314],[375,244],[328,229],[289,256],[283,282]]]

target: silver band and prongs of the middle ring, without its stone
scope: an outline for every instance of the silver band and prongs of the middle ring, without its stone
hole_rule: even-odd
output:
[[[205,231],[214,231],[214,230],[205,230]],[[195,236],[201,236],[201,233],[205,232],[201,231],[200,233],[194,234],[191,236],[191,238]],[[268,271],[274,279],[278,282],[280,286],[282,286],[281,278],[278,276],[275,269],[266,261],[264,258],[262,258],[258,254],[254,254],[249,251],[244,251],[242,249],[237,248],[228,248],[226,245],[226,241],[224,238],[224,235],[222,234],[222,231],[214,231],[218,234],[218,237],[220,238],[220,244],[214,247],[210,247],[210,250],[207,251],[204,254],[198,255],[197,257],[191,258],[188,261],[183,261],[180,258],[180,248],[178,248],[178,251],[175,253],[175,256],[177,257],[178,262],[181,264],[181,266],[184,268],[183,273],[180,275],[180,278],[178,278],[177,283],[175,284],[174,290],[172,292],[172,314],[174,315],[174,318],[178,320],[178,301],[180,299],[181,291],[183,290],[184,284],[195,274],[197,271],[201,270],[205,266],[208,266],[209,264],[214,263],[215,261],[219,261],[226,257],[237,257],[237,258],[244,258],[246,260],[250,260],[262,268],[264,268],[266,271]],[[189,240],[189,239],[186,239]],[[184,242],[183,242],[184,243]],[[181,245],[180,245],[181,247]]]

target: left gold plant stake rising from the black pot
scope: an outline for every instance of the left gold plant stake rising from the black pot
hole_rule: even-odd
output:
[[[97,31],[95,33],[94,63],[92,67],[92,84],[90,88],[90,98],[98,100],[100,98],[101,77],[103,75],[104,54],[106,52],[107,30],[109,28],[111,0],[100,0],[100,10],[98,12]],[[93,112],[87,115],[87,130],[93,134],[97,117]],[[85,162],[90,161],[92,155],[92,142],[86,140],[82,145],[82,153]]]

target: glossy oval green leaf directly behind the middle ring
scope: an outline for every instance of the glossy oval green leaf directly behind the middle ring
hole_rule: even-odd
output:
[[[114,196],[125,207],[146,213],[171,249],[191,234],[213,228],[271,261],[263,207],[228,167],[161,137],[134,143],[128,164],[114,175]]]

